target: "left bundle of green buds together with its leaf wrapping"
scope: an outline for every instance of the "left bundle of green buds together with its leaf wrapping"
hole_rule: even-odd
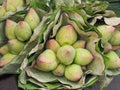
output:
[[[18,1],[15,3],[19,3],[16,8],[25,4],[22,0]],[[6,3],[12,3],[12,0],[5,0],[3,6],[4,4],[6,7],[11,5]],[[37,42],[34,40],[37,39],[38,35],[35,34],[34,30],[41,24],[41,11],[36,12],[34,8],[30,7],[25,11],[13,11],[11,9],[7,11],[5,8],[7,13],[14,12],[14,15],[9,14],[6,17],[5,14],[0,18],[0,74],[16,73],[23,59],[36,45]],[[30,46],[30,44],[32,45]]]

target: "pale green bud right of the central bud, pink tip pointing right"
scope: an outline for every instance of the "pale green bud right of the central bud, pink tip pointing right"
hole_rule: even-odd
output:
[[[93,55],[84,48],[77,48],[76,49],[76,56],[74,63],[79,65],[88,65],[93,60]]]

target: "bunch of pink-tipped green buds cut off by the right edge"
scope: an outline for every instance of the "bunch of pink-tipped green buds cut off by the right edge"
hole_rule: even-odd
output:
[[[120,30],[109,25],[100,25],[97,27],[102,34],[101,43],[105,53],[105,65],[107,69],[120,68],[120,58],[115,50],[120,47]]]

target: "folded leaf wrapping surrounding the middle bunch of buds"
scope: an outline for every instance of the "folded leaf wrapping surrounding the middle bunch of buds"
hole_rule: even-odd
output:
[[[87,49],[89,49],[92,52],[92,54],[96,55],[94,61],[98,60],[97,56],[102,57],[95,49],[96,48],[95,43],[99,41],[99,39],[98,39],[99,36],[96,34],[95,30],[91,29],[91,30],[86,31],[86,30],[84,30],[84,28],[81,29],[81,24],[82,24],[81,20],[77,21],[76,18],[72,18],[70,16],[71,13],[77,13],[77,12],[76,11],[73,11],[73,12],[70,11],[70,13],[68,13],[68,12],[69,12],[69,10],[63,10],[63,11],[59,10],[59,9],[56,10],[54,12],[54,14],[51,15],[50,21],[46,24],[45,27],[43,27],[42,32],[40,32],[40,36],[39,36],[40,37],[39,43],[38,43],[39,48],[36,52],[33,53],[34,58],[32,60],[30,60],[30,61],[32,61],[32,65],[30,65],[30,66],[27,65],[27,67],[25,67],[24,69],[21,70],[21,75],[20,75],[21,77],[19,79],[19,84],[21,84],[21,86],[20,86],[21,88],[28,89],[29,87],[26,87],[26,85],[29,83],[34,83],[35,85],[37,85],[36,86],[37,89],[39,89],[39,88],[44,88],[45,90],[47,90],[47,89],[80,89],[80,88],[85,88],[87,86],[91,86],[96,81],[98,81],[98,78],[94,77],[93,79],[91,79],[89,81],[88,84],[85,85],[85,83],[87,82],[86,74],[93,74],[94,76],[102,74],[102,72],[104,70],[104,63],[103,63],[103,59],[101,59],[101,58],[99,60],[100,62],[98,62],[98,64],[100,64],[102,66],[101,69],[99,69],[100,73],[98,73],[98,71],[97,71],[98,68],[95,71],[92,71],[92,69],[90,69],[91,72],[90,73],[86,72],[86,74],[83,75],[83,77],[78,82],[71,82],[71,81],[67,80],[65,77],[58,77],[58,76],[53,75],[51,72],[42,72],[42,71],[39,71],[34,68],[34,64],[36,63],[36,60],[34,60],[34,59],[37,58],[38,55],[40,53],[42,53],[42,51],[44,50],[46,41],[49,38],[54,38],[56,36],[56,33],[58,32],[59,28],[63,25],[67,25],[67,24],[71,24],[75,28],[75,30],[78,33],[78,35],[80,36],[80,38],[84,39],[88,42]],[[80,16],[80,17],[82,18],[82,16]],[[83,19],[83,21],[84,21],[84,19]],[[84,21],[83,23],[86,23],[86,22]],[[91,28],[93,28],[93,27],[91,26]],[[95,37],[95,39],[94,39],[94,37]],[[94,45],[92,45],[91,43]],[[89,47],[89,45],[91,47]],[[96,68],[96,64],[93,66],[93,68],[94,67]],[[26,76],[26,78],[25,78],[26,82],[22,79],[22,76],[24,76],[24,75]]]

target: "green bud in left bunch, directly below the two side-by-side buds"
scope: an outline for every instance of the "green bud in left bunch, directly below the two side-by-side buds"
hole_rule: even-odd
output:
[[[9,52],[12,54],[19,54],[24,48],[25,43],[18,41],[17,39],[11,39],[8,41]]]

